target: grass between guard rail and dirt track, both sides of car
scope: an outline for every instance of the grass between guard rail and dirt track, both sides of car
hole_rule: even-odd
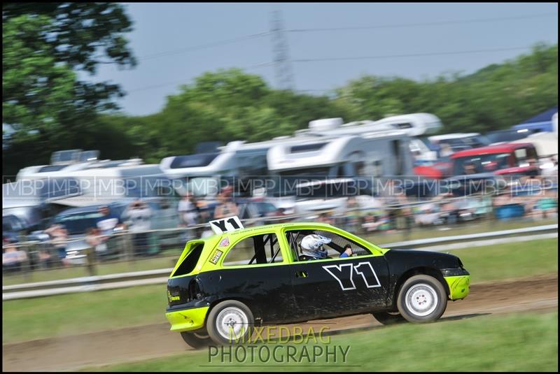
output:
[[[557,273],[556,239],[478,247],[452,253],[472,282]],[[165,285],[2,302],[2,341],[14,343],[127,326],[165,323]]]

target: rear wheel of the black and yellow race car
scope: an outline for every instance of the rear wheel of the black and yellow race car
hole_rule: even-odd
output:
[[[253,312],[247,305],[237,300],[227,300],[210,310],[207,330],[216,344],[244,343],[251,338],[254,324]]]

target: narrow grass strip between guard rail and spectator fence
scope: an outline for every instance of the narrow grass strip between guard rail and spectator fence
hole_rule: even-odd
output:
[[[381,232],[375,234],[360,235],[372,243],[384,245],[395,243],[402,240],[416,240],[423,238],[437,238],[441,236],[463,235],[468,233],[479,233],[483,231],[499,231],[507,229],[518,229],[520,227],[540,226],[543,224],[555,224],[558,220],[514,220],[514,221],[489,221],[479,220],[471,223],[451,226],[452,229],[442,230],[449,226],[434,226],[430,228],[413,229],[409,233],[404,231]],[[122,261],[112,264],[97,264],[97,275],[114,273],[126,273],[130,271],[144,271],[160,268],[172,268],[176,259],[181,254],[182,248],[165,250],[162,252],[165,257],[154,257],[151,259],[139,259],[137,261]],[[2,275],[3,285],[19,285],[27,282],[43,282],[47,280],[58,280],[68,278],[85,277],[89,275],[84,266],[71,268],[59,268],[47,271],[34,271],[26,274]]]

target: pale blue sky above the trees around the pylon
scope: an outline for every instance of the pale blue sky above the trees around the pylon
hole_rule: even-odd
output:
[[[134,22],[127,35],[136,68],[100,66],[90,80],[120,84],[118,103],[130,115],[157,113],[169,94],[205,71],[246,68],[273,61],[272,36],[197,50],[173,52],[267,32],[280,10],[285,29],[379,27],[377,29],[287,32],[290,59],[416,55],[496,50],[457,55],[293,62],[295,89],[333,89],[360,75],[433,78],[472,73],[529,50],[537,42],[557,43],[557,3],[125,3]],[[434,24],[437,22],[514,20]],[[410,24],[426,24],[410,26]],[[430,24],[432,23],[432,24]],[[160,57],[153,55],[162,54]],[[246,69],[276,87],[274,66]]]

